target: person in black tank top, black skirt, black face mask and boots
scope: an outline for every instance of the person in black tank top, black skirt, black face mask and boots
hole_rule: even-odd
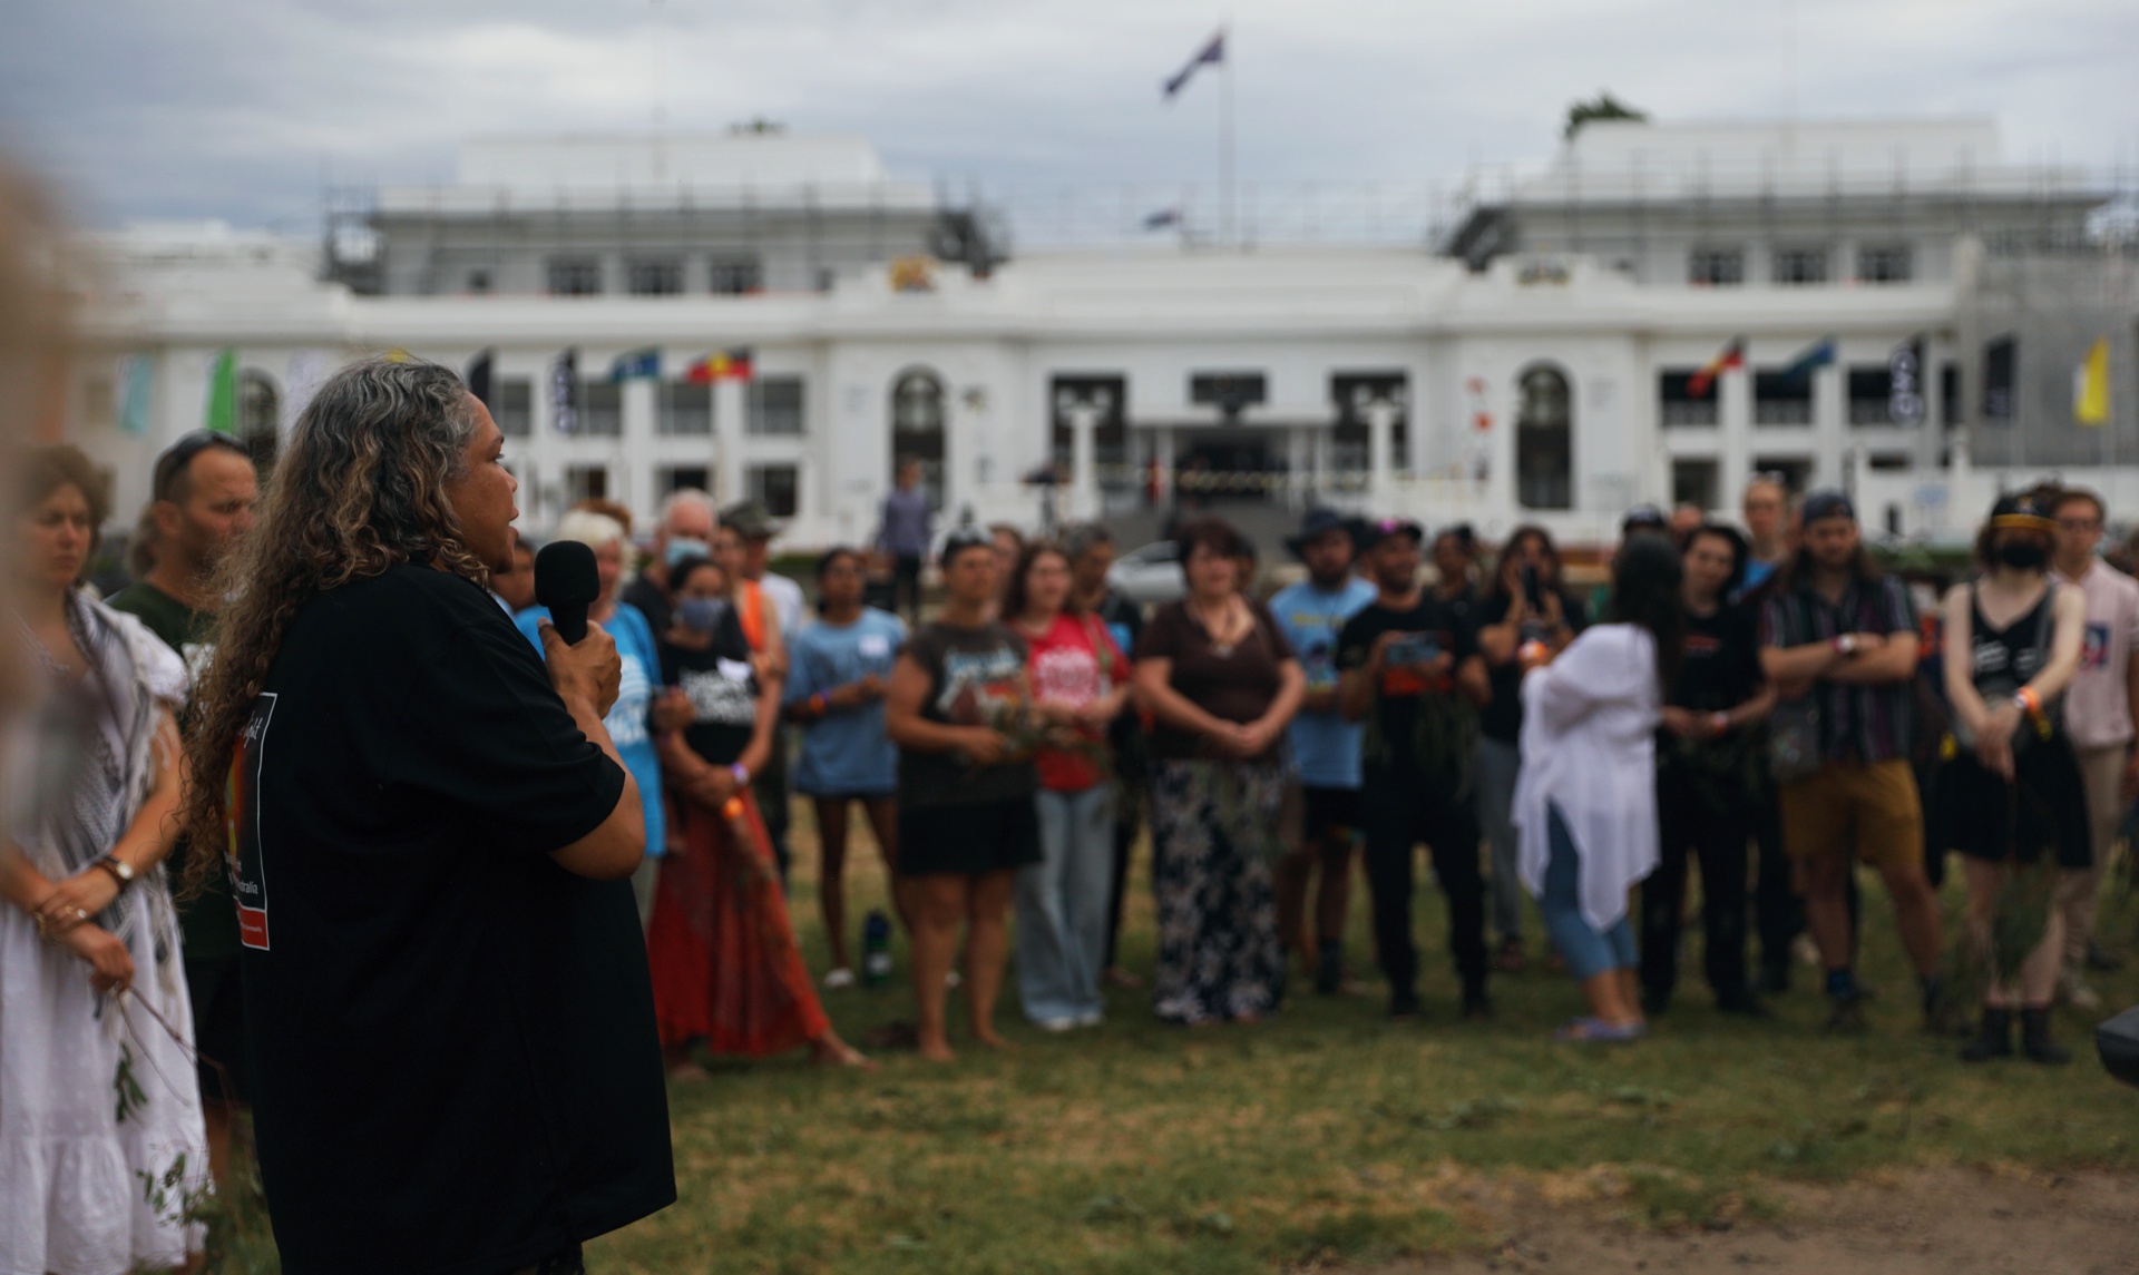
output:
[[[2015,1008],[2030,1059],[2071,1061],[2049,1040],[2062,935],[2049,903],[2056,875],[2043,860],[2086,866],[2090,856],[2079,759],[2058,712],[2079,672],[2086,599],[2047,578],[2053,533],[2056,524],[2030,496],[2002,496],[1976,537],[1983,575],[1946,593],[1953,732],[1932,794],[1932,845],[1964,856],[1970,937],[1989,963],[1983,1031],[1961,1050],[1972,1063],[2013,1053]],[[2021,871],[2023,888],[2009,890]],[[2026,881],[2041,881],[2041,890]],[[2026,901],[2034,894],[2043,933],[2021,943],[2023,956],[2011,950],[2011,939],[1994,941],[1994,933],[2015,928],[2017,909],[2032,909]],[[2000,918],[2000,907],[2015,916]]]

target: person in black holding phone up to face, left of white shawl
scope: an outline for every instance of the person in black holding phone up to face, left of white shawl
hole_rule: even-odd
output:
[[[1523,969],[1523,881],[1512,811],[1523,770],[1523,672],[1514,652],[1525,642],[1542,642],[1551,655],[1566,650],[1589,625],[1589,610],[1564,588],[1553,537],[1542,526],[1519,526],[1502,546],[1493,590],[1478,599],[1474,616],[1491,687],[1478,715],[1478,819],[1493,845],[1499,967],[1517,971]]]

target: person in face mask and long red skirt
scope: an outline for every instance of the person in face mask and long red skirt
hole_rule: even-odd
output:
[[[772,749],[781,682],[751,663],[727,571],[708,558],[670,569],[676,625],[661,642],[674,687],[659,725],[680,845],[661,862],[646,956],[672,1078],[704,1078],[691,1048],[772,1057],[809,1046],[821,1065],[868,1065],[832,1031],[772,860],[751,774]]]

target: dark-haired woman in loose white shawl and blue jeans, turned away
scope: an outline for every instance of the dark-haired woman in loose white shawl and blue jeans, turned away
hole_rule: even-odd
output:
[[[1679,552],[1636,535],[1613,560],[1606,623],[1557,659],[1523,661],[1523,772],[1514,792],[1523,884],[1589,999],[1559,1040],[1630,1042],[1647,1029],[1628,892],[1656,869],[1656,725],[1679,663]]]

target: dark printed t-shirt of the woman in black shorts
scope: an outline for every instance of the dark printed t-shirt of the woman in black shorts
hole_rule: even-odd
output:
[[[928,674],[928,693],[922,695],[926,721],[986,725],[1020,736],[1027,734],[1033,708],[1025,674],[1027,652],[1025,638],[990,620],[978,629],[922,625],[901,657]],[[911,811],[1007,802],[1031,798],[1035,792],[1040,772],[1029,755],[978,766],[956,751],[898,749],[898,804]]]

